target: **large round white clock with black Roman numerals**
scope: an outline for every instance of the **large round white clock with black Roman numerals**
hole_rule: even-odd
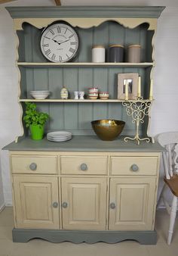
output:
[[[41,52],[52,62],[67,62],[78,51],[78,35],[75,30],[64,23],[55,23],[41,34]]]

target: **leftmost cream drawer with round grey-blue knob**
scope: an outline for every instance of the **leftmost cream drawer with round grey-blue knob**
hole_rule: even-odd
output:
[[[12,173],[57,173],[55,155],[11,155]]]

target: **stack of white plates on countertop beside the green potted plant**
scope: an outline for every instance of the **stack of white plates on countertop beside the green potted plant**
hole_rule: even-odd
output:
[[[72,133],[66,131],[56,131],[47,133],[47,139],[51,142],[66,142],[69,139],[72,139]]]

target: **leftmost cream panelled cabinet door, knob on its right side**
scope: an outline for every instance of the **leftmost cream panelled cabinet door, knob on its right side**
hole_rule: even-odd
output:
[[[59,229],[56,177],[14,176],[17,228]]]

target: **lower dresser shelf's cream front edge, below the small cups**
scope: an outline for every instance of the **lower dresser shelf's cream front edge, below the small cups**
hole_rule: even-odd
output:
[[[115,103],[115,102],[124,102],[122,99],[58,99],[58,98],[47,98],[47,99],[32,99],[32,98],[21,98],[20,102],[65,102],[65,103],[86,103],[86,102],[94,102],[94,103]],[[137,100],[132,100],[137,101]],[[143,101],[150,101],[149,99],[143,99]]]

